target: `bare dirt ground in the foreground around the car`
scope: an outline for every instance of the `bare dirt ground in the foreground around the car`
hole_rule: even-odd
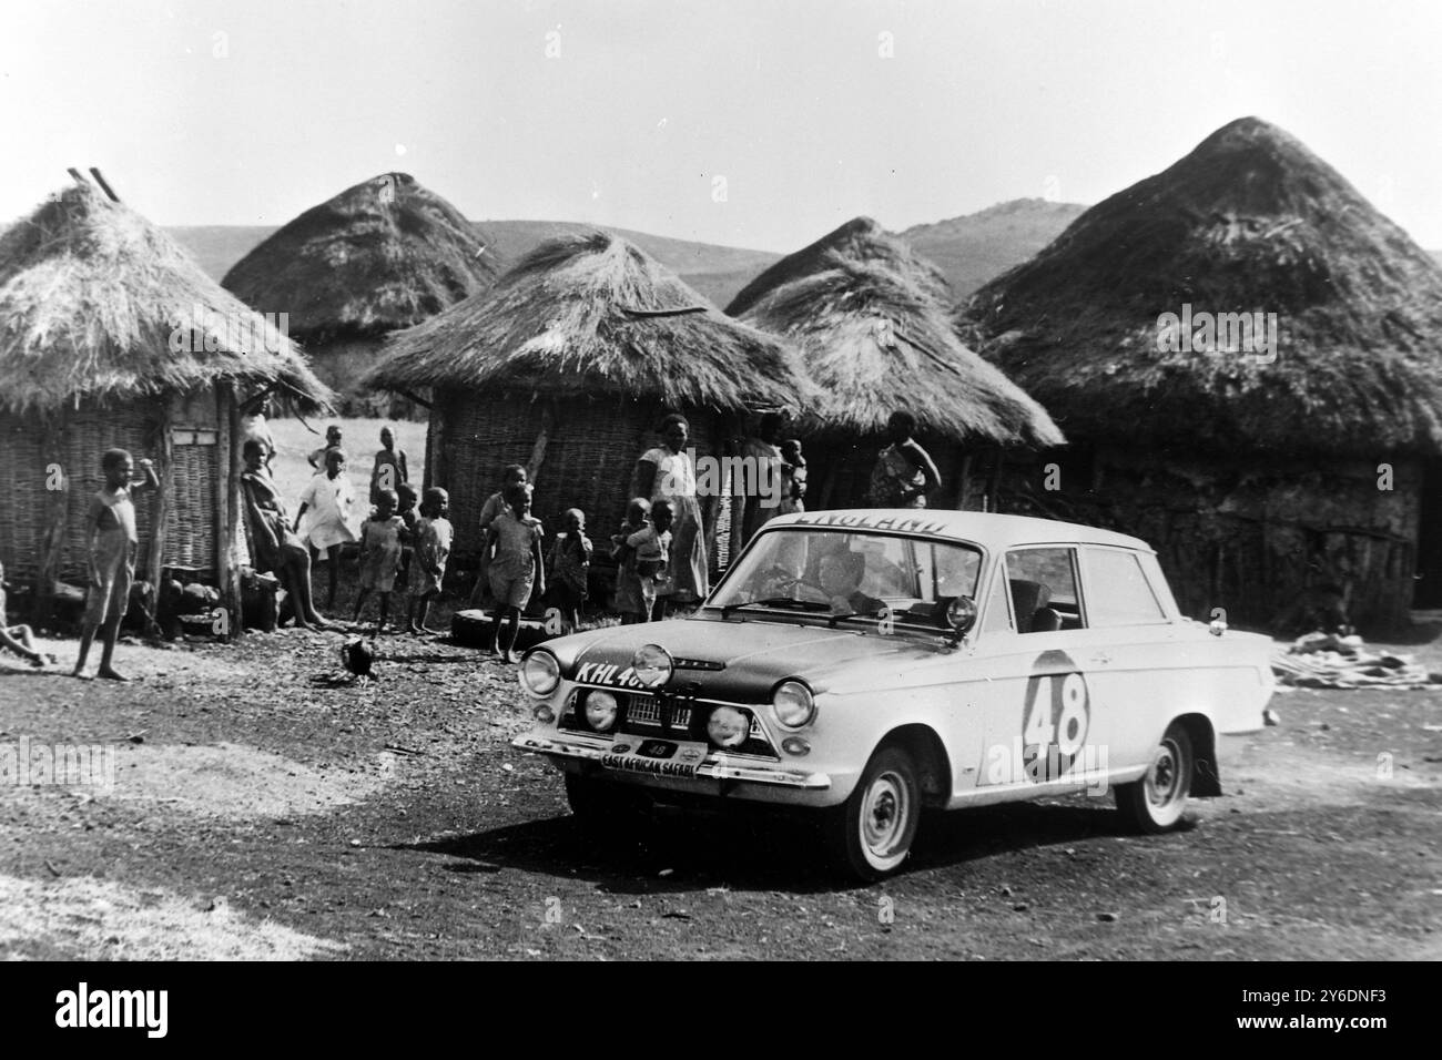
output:
[[[379,681],[332,686],[339,640],[127,643],[130,685],[0,662],[0,747],[118,747],[110,786],[0,787],[0,955],[1442,958],[1438,692],[1278,695],[1188,831],[1080,796],[968,811],[862,887],[795,825],[587,834],[508,746],[513,668],[394,636]]]

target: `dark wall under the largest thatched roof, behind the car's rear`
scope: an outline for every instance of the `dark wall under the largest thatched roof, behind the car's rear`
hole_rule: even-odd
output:
[[[1086,459],[1083,459],[1086,457]],[[1057,463],[1060,489],[1043,467]],[[1167,456],[1118,449],[1009,461],[1002,511],[1116,529],[1146,541],[1184,614],[1270,629],[1298,596],[1340,584],[1364,633],[1407,626],[1422,466],[1376,461]]]

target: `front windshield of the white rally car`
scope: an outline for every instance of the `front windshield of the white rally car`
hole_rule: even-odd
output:
[[[969,545],[777,528],[756,539],[707,607],[947,629],[947,604],[975,599],[981,567],[981,552]]]

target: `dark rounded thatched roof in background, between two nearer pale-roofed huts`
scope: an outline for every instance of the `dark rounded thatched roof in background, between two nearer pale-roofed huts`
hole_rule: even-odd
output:
[[[300,342],[410,327],[492,284],[497,262],[472,224],[407,173],[348,187],[277,229],[225,288],[288,312]]]

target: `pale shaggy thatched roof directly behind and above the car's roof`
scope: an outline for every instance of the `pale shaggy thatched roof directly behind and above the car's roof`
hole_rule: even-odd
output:
[[[898,408],[956,441],[1060,446],[1045,410],[962,345],[947,310],[904,271],[828,251],[743,320],[795,342],[818,425],[868,434]]]

